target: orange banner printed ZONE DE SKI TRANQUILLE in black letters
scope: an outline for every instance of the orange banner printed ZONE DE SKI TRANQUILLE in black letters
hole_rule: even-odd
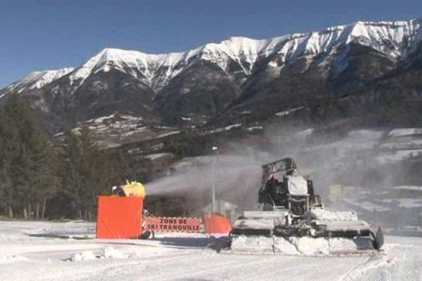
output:
[[[169,218],[148,216],[144,219],[146,230],[178,232],[178,233],[200,233],[202,220],[200,218]]]

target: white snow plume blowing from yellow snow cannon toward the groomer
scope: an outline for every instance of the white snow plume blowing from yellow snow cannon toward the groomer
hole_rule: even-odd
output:
[[[263,136],[261,141],[263,145],[248,145],[248,139],[243,142],[226,143],[218,161],[216,155],[184,159],[176,165],[176,174],[146,184],[147,193],[149,195],[194,193],[196,197],[208,196],[204,202],[210,202],[210,190],[212,185],[215,185],[217,199],[231,202],[244,209],[256,209],[262,164],[298,155],[295,151],[298,148],[294,145],[289,145],[291,148],[286,149],[289,140],[284,136],[293,136],[293,133],[286,133],[286,129],[281,131],[283,133],[272,130],[274,135]],[[298,133],[298,136],[304,139],[309,132],[312,131]],[[293,140],[293,143],[297,145],[298,140]],[[284,146],[282,149],[281,145]]]

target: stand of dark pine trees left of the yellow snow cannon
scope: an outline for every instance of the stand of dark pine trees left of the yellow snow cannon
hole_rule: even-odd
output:
[[[94,219],[96,197],[121,184],[129,164],[100,150],[89,129],[53,138],[38,112],[13,94],[0,107],[0,216]]]

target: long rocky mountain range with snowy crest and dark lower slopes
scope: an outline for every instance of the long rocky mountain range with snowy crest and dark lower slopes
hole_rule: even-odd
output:
[[[33,72],[1,89],[0,98],[20,93],[53,131],[115,112],[177,126],[250,123],[293,111],[307,122],[414,123],[422,109],[421,24],[354,22],[158,55],[106,48],[76,68]]]

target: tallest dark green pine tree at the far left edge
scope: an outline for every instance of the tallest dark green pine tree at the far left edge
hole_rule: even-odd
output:
[[[1,109],[1,192],[3,207],[13,217],[22,210],[25,218],[39,218],[41,202],[58,186],[53,164],[56,154],[41,119],[18,94]],[[34,208],[36,211],[34,211]]]

